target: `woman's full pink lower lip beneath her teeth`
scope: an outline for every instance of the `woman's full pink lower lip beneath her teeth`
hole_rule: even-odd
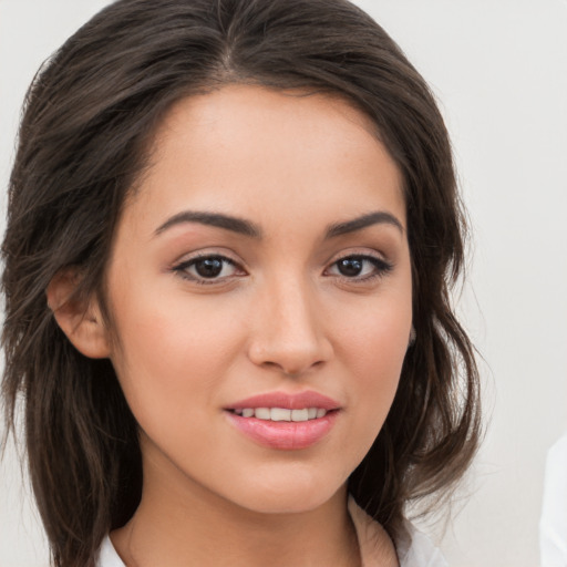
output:
[[[308,449],[321,441],[333,426],[338,411],[324,417],[308,421],[269,421],[243,417],[226,412],[230,422],[245,435],[260,445],[285,451]]]

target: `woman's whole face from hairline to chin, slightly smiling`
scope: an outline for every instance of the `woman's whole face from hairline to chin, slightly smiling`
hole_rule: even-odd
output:
[[[344,485],[408,348],[401,184],[337,97],[227,86],[174,106],[107,272],[145,483],[257,512]]]

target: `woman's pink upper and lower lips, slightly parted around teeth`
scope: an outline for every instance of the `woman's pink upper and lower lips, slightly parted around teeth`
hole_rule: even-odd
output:
[[[321,408],[329,413],[323,417],[303,422],[267,421],[256,417],[243,417],[230,410],[246,408],[284,408],[302,410]],[[225,408],[229,422],[255,443],[280,451],[299,451],[321,441],[334,425],[340,413],[340,404],[331,398],[313,391],[300,393],[269,392],[240,400]]]

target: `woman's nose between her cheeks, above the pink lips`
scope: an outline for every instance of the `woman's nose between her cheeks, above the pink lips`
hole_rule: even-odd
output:
[[[288,375],[321,367],[333,354],[324,319],[309,286],[288,278],[267,286],[251,316],[248,357]]]

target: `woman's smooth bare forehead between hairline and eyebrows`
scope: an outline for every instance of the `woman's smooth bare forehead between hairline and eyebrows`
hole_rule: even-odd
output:
[[[405,225],[398,166],[374,123],[339,96],[229,85],[177,102],[158,127],[135,202],[297,215],[389,208]],[[190,203],[189,203],[190,202]],[[238,213],[240,210],[237,210]]]

